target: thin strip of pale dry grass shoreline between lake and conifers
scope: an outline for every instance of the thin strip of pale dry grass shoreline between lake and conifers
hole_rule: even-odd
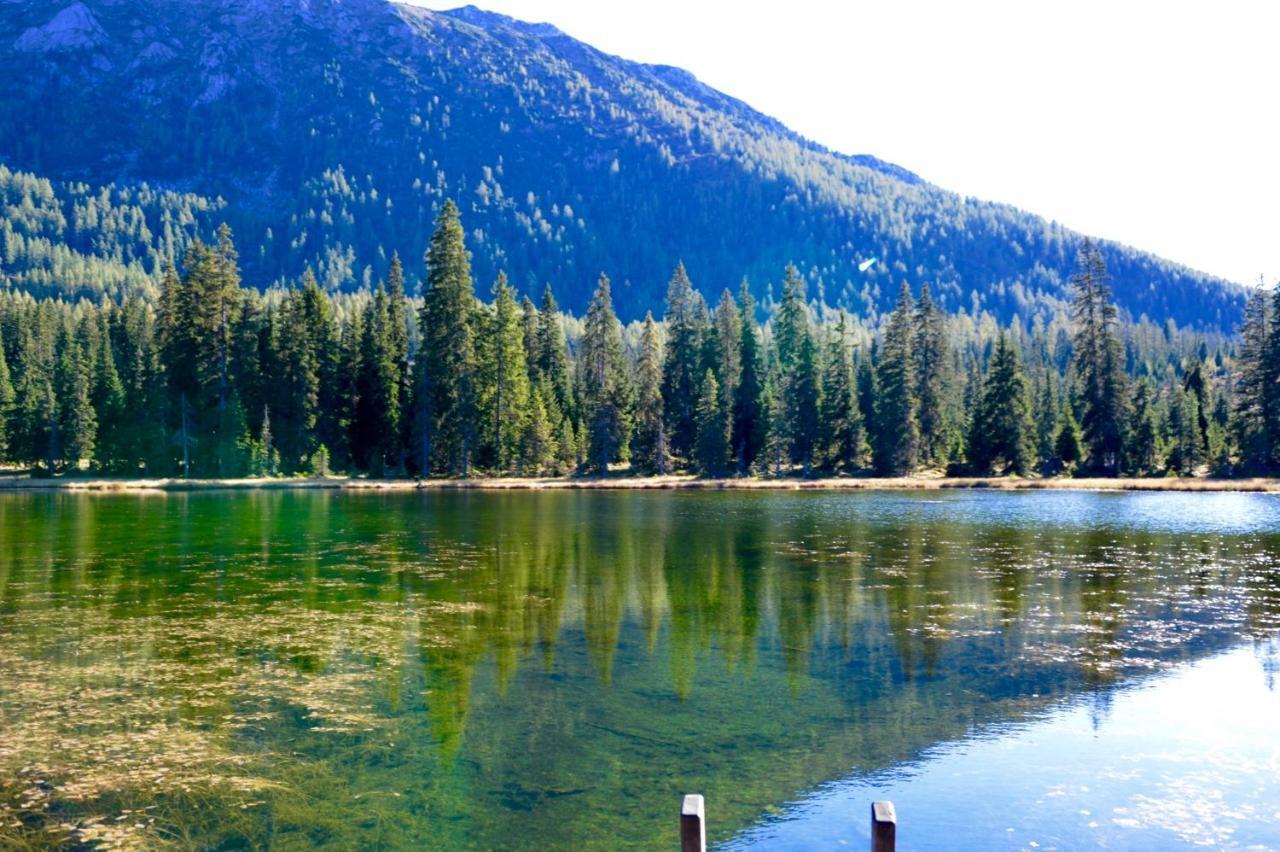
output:
[[[529,478],[475,477],[468,480],[324,478],[38,478],[0,477],[0,494],[10,491],[76,493],[189,493],[189,491],[1247,491],[1280,493],[1280,478],[1137,478],[1137,477],[829,477],[723,478],[687,475]]]

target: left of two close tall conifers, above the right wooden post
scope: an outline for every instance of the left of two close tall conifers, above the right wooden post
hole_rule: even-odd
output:
[[[911,290],[904,283],[897,306],[884,325],[876,376],[873,450],[876,469],[883,476],[905,476],[915,469],[919,458],[911,313]]]

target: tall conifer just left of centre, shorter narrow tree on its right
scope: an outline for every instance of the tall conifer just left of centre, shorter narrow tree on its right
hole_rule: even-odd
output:
[[[622,352],[622,326],[613,313],[609,279],[604,275],[591,297],[579,361],[586,466],[598,475],[625,461],[631,438],[630,388]]]

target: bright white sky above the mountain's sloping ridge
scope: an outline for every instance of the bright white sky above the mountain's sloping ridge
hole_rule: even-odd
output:
[[[1280,279],[1280,3],[476,5],[678,65],[947,189],[1242,284]]]

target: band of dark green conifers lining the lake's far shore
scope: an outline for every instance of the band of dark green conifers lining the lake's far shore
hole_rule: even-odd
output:
[[[877,327],[794,266],[767,312],[714,307],[677,266],[666,313],[585,317],[499,274],[476,296],[457,207],[421,297],[393,257],[371,293],[242,285],[230,230],[154,299],[0,294],[0,459],[125,476],[1221,475],[1280,467],[1280,296],[1242,338],[1121,322],[1097,247],[1056,335],[975,329],[902,284]]]

